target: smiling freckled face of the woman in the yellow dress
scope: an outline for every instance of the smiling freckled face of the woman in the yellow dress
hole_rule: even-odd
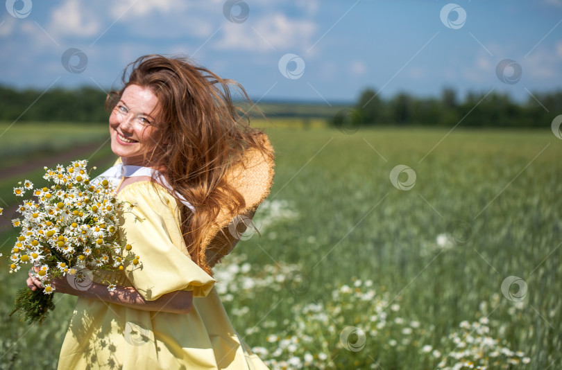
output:
[[[160,105],[151,89],[129,85],[109,119],[111,150],[124,164],[149,166],[144,153],[156,142]]]

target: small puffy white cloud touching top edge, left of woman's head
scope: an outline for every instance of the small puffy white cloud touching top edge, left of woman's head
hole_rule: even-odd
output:
[[[53,10],[49,33],[84,37],[99,35],[101,24],[99,19],[94,17],[99,12],[86,9],[85,4],[87,3],[78,0],[67,0]]]

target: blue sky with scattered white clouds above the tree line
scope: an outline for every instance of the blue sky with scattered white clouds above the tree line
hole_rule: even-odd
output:
[[[366,87],[389,98],[438,96],[445,86],[460,97],[495,89],[521,100],[561,89],[562,0],[455,3],[7,0],[0,83],[108,90],[140,55],[185,53],[241,82],[255,100],[331,105]],[[71,48],[78,51],[65,69]],[[511,83],[498,78],[498,64]]]

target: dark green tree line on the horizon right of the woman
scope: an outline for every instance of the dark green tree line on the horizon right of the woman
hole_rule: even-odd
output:
[[[452,87],[438,98],[418,98],[400,92],[384,100],[375,89],[361,92],[352,109],[337,114],[332,123],[348,129],[377,125],[422,125],[454,127],[550,127],[562,114],[562,89],[534,92],[518,103],[506,93],[469,91],[463,100]],[[540,102],[540,103],[539,103]]]

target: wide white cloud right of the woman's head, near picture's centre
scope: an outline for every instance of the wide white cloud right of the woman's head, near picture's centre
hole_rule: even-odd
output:
[[[305,19],[289,19],[282,13],[264,15],[255,26],[227,23],[217,49],[244,49],[248,51],[278,51],[304,49],[310,46],[310,37],[316,24]]]

